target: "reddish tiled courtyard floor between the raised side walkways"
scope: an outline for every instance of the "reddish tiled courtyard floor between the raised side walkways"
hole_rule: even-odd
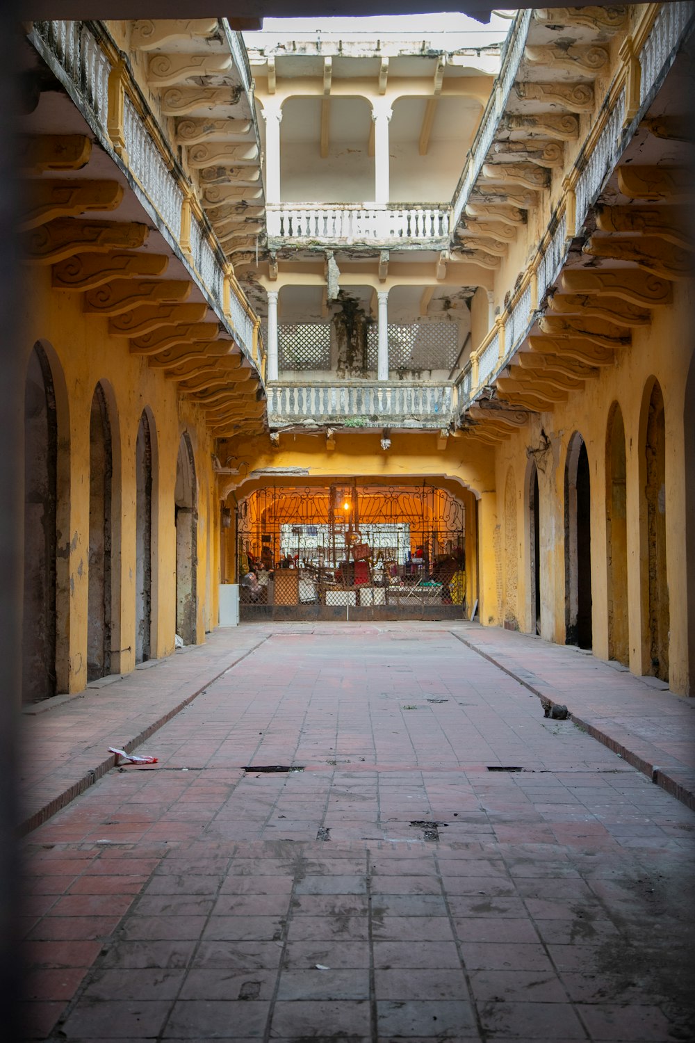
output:
[[[691,810],[451,628],[276,629],[26,839],[27,1039],[695,1038]]]

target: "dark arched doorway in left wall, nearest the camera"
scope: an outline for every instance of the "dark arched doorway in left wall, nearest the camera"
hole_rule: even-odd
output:
[[[56,686],[57,412],[48,358],[36,343],[24,395],[24,610],[22,699]]]

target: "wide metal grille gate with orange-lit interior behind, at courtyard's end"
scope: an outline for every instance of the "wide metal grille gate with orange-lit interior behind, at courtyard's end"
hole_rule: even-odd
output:
[[[258,490],[237,534],[242,620],[464,616],[464,506],[433,486]]]

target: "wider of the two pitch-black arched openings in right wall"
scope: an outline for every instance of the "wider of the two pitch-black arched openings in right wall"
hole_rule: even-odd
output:
[[[591,482],[587,446],[575,432],[565,464],[565,642],[592,647]]]

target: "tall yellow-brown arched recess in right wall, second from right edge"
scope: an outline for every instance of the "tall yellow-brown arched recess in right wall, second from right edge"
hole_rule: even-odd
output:
[[[647,393],[649,397],[647,399]],[[647,388],[643,401],[642,465],[643,547],[646,549],[646,631],[643,646],[647,653],[645,673],[669,679],[669,590],[666,572],[666,426],[664,395],[659,381]]]

